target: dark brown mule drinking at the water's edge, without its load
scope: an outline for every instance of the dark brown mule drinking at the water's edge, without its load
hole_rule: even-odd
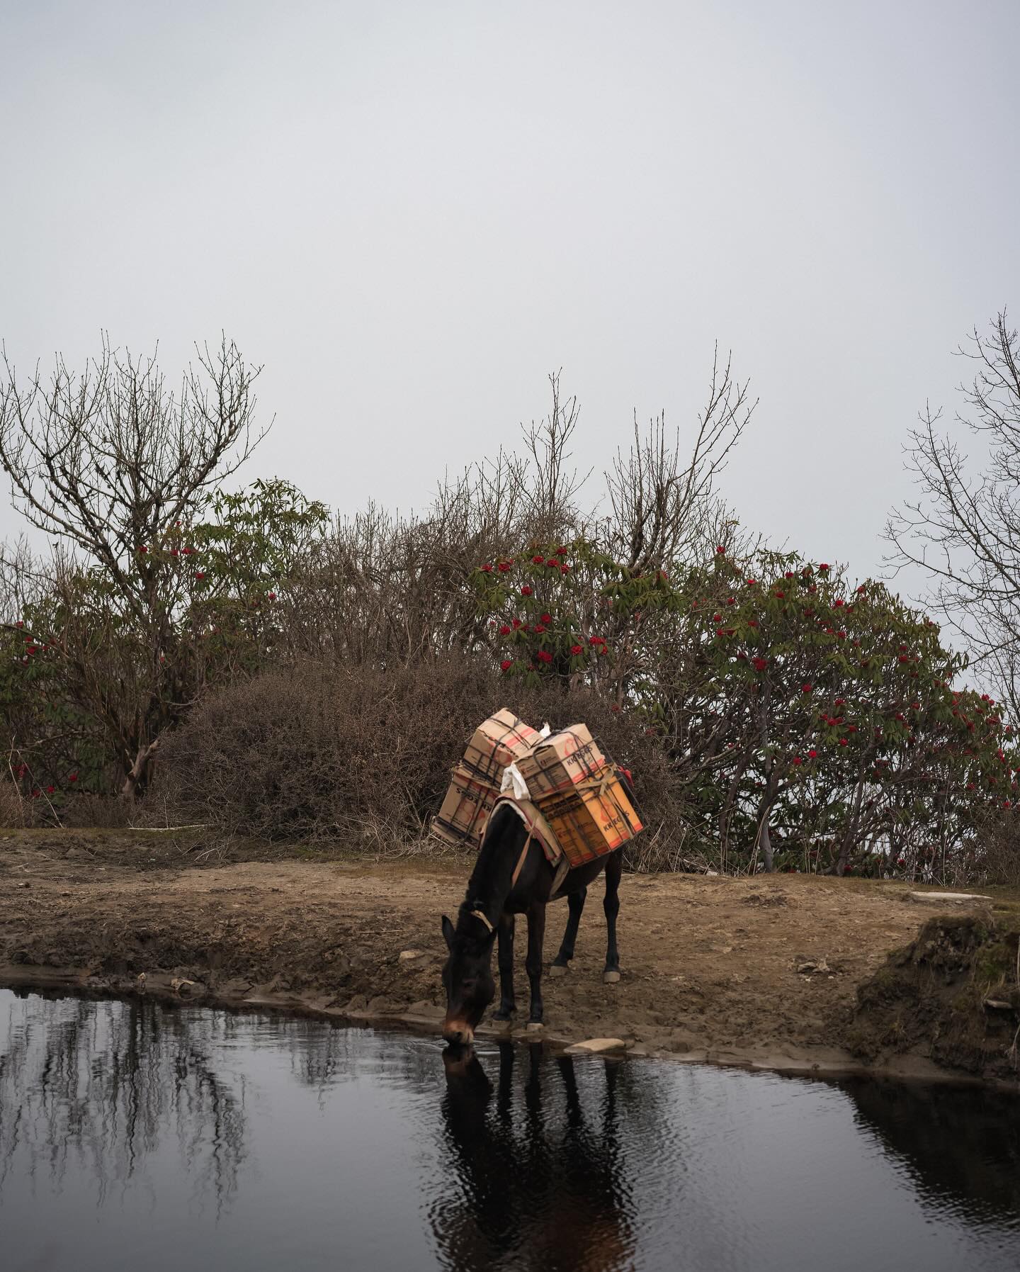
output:
[[[527,851],[525,851],[527,845]],[[605,950],[603,979],[619,979],[617,950],[617,913],[619,912],[619,875],[623,860],[619,850],[598,857],[588,865],[567,871],[557,893],[566,897],[570,918],[553,960],[551,973],[565,972],[574,958],[574,943],[581,921],[588,885],[605,870],[605,925],[609,940]],[[492,946],[500,941],[500,1007],[496,1020],[509,1020],[516,1010],[514,999],[514,918],[528,916],[528,957],[524,967],[532,987],[528,1020],[542,1023],[542,945],[546,936],[546,904],[553,884],[553,868],[546,860],[542,845],[528,842],[528,831],[514,809],[501,805],[486,828],[478,860],[468,880],[468,890],[457,916],[457,925],[443,916],[443,936],[449,958],[443,968],[446,988],[446,1019],[443,1037],[451,1043],[468,1043],[478,1021],[496,996],[492,979]]]

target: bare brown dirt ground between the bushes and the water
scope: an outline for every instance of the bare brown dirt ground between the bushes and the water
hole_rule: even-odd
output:
[[[0,985],[438,1029],[440,916],[455,913],[467,874],[464,860],[243,847],[225,859],[144,832],[0,831]],[[932,916],[908,890],[804,875],[624,875],[622,979],[607,986],[596,881],[569,974],[544,978],[543,1037],[787,1071],[853,1067],[843,1043],[857,986]],[[566,904],[553,904],[547,960],[565,921]],[[523,965],[518,996],[527,1011]],[[935,1071],[923,1052],[881,1067]]]

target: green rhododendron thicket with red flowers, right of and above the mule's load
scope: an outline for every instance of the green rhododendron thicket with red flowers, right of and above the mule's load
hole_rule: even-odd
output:
[[[472,583],[505,675],[588,684],[645,721],[724,869],[968,873],[1016,804],[1012,728],[881,583],[722,544],[635,570],[584,539]]]

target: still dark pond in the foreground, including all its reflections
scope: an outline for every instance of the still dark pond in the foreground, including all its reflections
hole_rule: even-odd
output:
[[[1020,1266],[1020,1100],[0,991],[0,1264]]]

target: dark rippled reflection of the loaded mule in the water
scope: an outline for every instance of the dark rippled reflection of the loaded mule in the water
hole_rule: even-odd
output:
[[[448,1049],[443,1119],[453,1150],[457,1196],[431,1207],[444,1267],[610,1272],[633,1266],[630,1188],[619,1146],[616,1084],[619,1063],[604,1066],[600,1107],[582,1108],[570,1057],[541,1065],[530,1047],[520,1093],[514,1062],[500,1046],[492,1084],[471,1049]],[[542,1088],[556,1070],[560,1081]],[[585,1086],[588,1084],[584,1084]],[[588,1091],[585,1091],[585,1098]]]

